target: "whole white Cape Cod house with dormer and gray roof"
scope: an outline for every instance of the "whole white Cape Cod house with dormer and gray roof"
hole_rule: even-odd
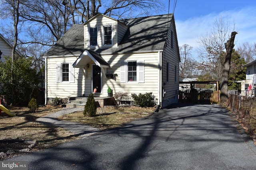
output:
[[[97,14],[73,25],[46,53],[46,103],[55,97],[152,92],[178,102],[179,48],[173,14],[116,20]]]

